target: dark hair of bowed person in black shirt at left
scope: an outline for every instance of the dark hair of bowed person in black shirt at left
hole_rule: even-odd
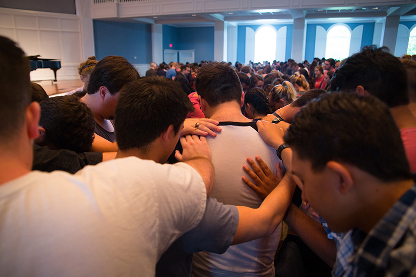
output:
[[[94,140],[94,114],[74,95],[51,97],[40,103],[39,125],[46,141],[59,149],[89,152]]]

